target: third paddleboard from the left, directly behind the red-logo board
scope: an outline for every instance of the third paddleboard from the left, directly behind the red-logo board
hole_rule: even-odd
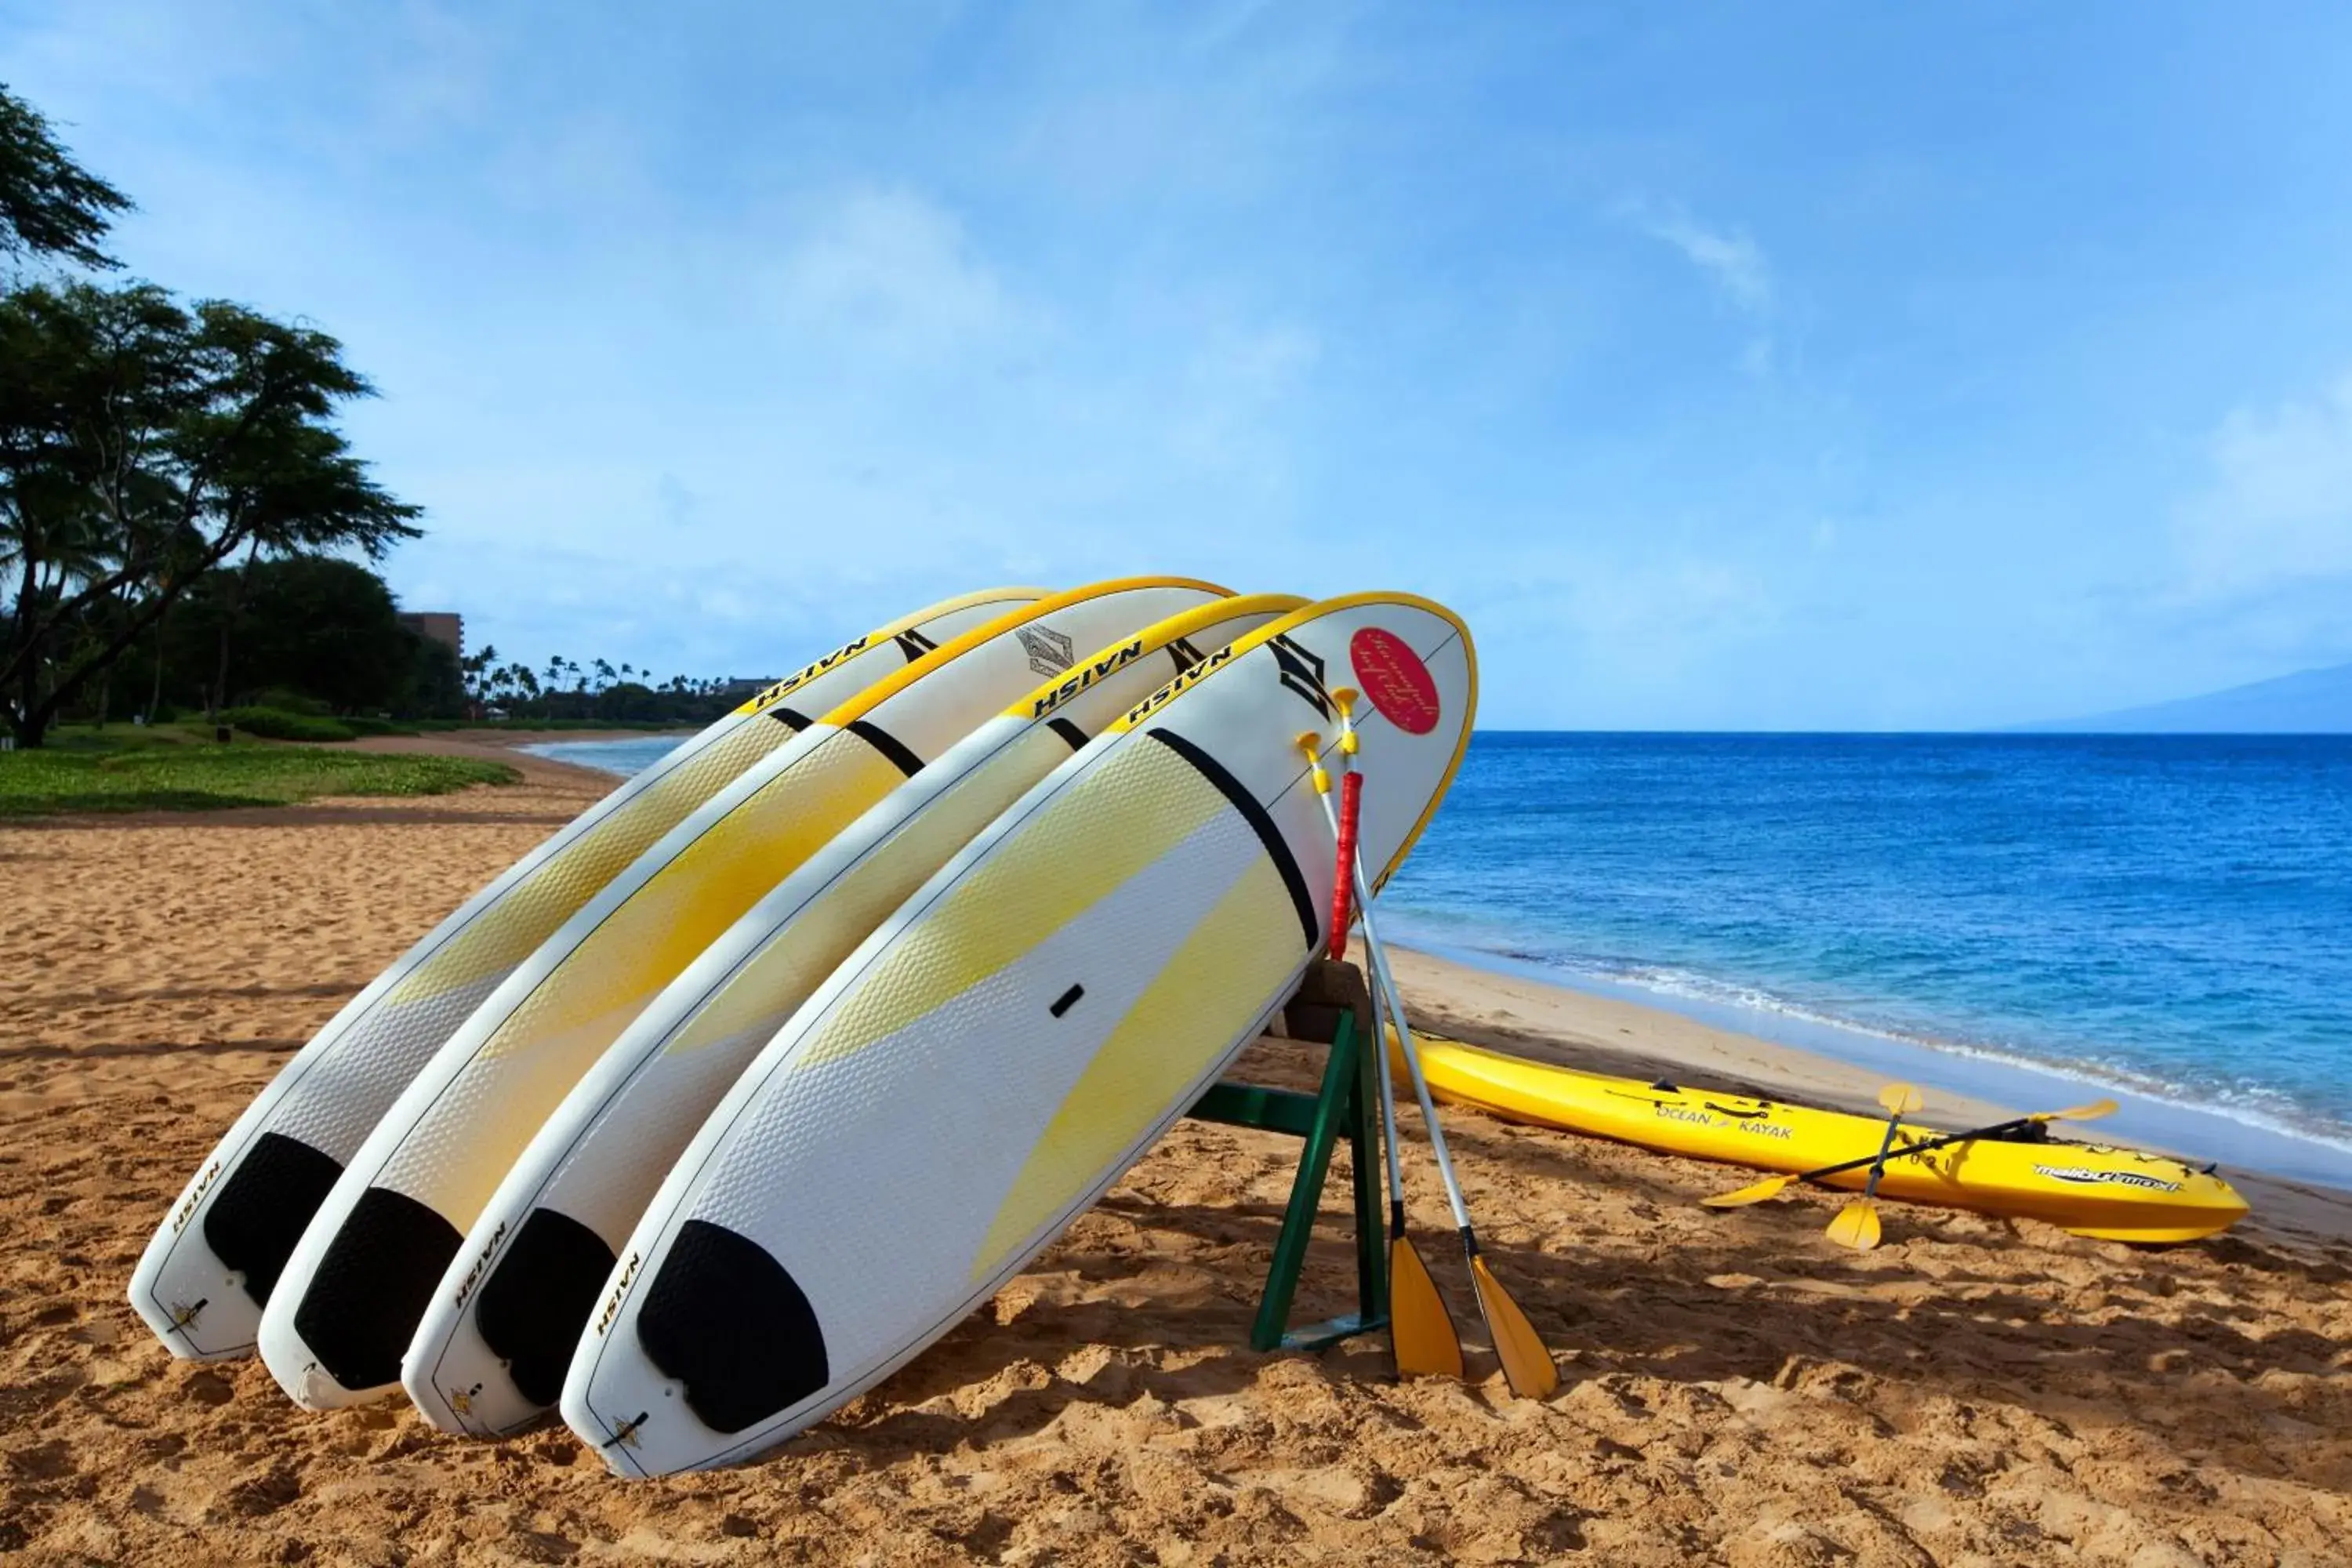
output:
[[[1183,670],[1305,604],[1216,599],[1091,651],[891,790],[637,1016],[499,1182],[442,1274],[402,1382],[447,1432],[555,1403],[619,1246],[743,1065],[971,835]]]

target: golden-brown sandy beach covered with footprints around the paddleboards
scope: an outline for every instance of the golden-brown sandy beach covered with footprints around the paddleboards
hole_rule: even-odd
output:
[[[1178,1124],[1112,1194],[844,1413],[731,1472],[621,1483],[560,1425],[308,1415],[172,1361],[122,1300],[247,1098],[386,961],[612,780],[0,827],[0,1554],[31,1563],[2197,1563],[2352,1561],[2352,1208],[2136,1251],[1889,1211],[1828,1246],[1722,1166],[1454,1114],[1496,1272],[1562,1356],[1505,1396],[1409,1131],[1414,1222],[1472,1382],[1385,1345],[1247,1349],[1296,1145]],[[1409,954],[1479,1044],[1825,1105],[1877,1079],[1675,1013]],[[1270,1041],[1240,1077],[1305,1081]],[[1931,1100],[1929,1119],[1985,1107]],[[1345,1154],[1341,1157],[1345,1161]],[[1301,1316],[1345,1305],[1334,1204]]]

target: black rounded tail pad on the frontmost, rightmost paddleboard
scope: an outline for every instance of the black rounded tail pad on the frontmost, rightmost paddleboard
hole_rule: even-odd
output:
[[[734,1229],[687,1220],[637,1307],[637,1347],[713,1432],[743,1432],[833,1380],[800,1281]]]

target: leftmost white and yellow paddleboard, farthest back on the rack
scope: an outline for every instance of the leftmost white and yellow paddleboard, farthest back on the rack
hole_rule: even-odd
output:
[[[188,1180],[129,1298],[176,1356],[254,1347],[261,1307],[343,1166],[416,1072],[557,926],[743,769],[941,642],[1042,597],[993,588],[826,654],[644,769],[409,947],[294,1056]]]

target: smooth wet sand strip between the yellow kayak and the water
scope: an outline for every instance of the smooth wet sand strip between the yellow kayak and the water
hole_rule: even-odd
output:
[[[1724,1027],[1722,1023],[1661,1006],[1649,999],[1609,997],[1578,990],[1573,985],[1538,978],[1519,969],[1486,966],[1451,952],[1395,945],[1397,985],[1404,990],[1406,1011],[1414,1023],[1425,1023],[1439,1034],[1451,1034],[1472,1046],[1491,1046],[1526,1056],[1541,1063],[1578,1067],[1583,1072],[1611,1072],[1618,1077],[1689,1077],[1710,1088],[1752,1093],[1762,1098],[1842,1110],[1860,1117],[1879,1117],[1877,1091],[1889,1081],[1889,1072],[1875,1063],[1858,1063],[1828,1051],[1813,1051],[1757,1032]],[[1889,1041],[1893,1053],[1933,1056],[1929,1046],[1903,1046]],[[2070,1095],[2034,1098],[2002,1093],[2004,1086],[1976,1079],[1976,1091],[1955,1088],[1971,1079],[1971,1058],[1950,1056],[1950,1072],[1905,1072],[1919,1079],[1926,1107],[1919,1119],[1933,1126],[1983,1126],[2004,1117],[2016,1117],[2049,1105],[2065,1105]],[[1938,1067],[1938,1063],[1915,1063]],[[2079,1098],[2084,1088],[2077,1079],[2049,1077],[2070,1086]],[[1931,1081],[1936,1079],[1936,1081]],[[2119,1091],[2110,1091],[2124,1098]],[[2209,1117],[2211,1119],[2211,1117]],[[2180,1152],[2157,1138],[2131,1138],[2117,1131],[2119,1112],[2091,1126],[2053,1128],[2058,1138],[2074,1143],[2131,1143],[2161,1152]],[[2237,1124],[2232,1124],[2237,1126]],[[1576,1135],[1576,1133],[1564,1133]],[[1661,1159],[1665,1159],[1661,1154]],[[1740,1166],[1726,1166],[1740,1168]],[[2225,1164],[2223,1175],[2246,1194],[2253,1213],[2239,1227],[2258,1227],[2286,1241],[2345,1241],[2352,1239],[2352,1185],[2333,1185],[2303,1175],[2277,1175],[2253,1166]]]

